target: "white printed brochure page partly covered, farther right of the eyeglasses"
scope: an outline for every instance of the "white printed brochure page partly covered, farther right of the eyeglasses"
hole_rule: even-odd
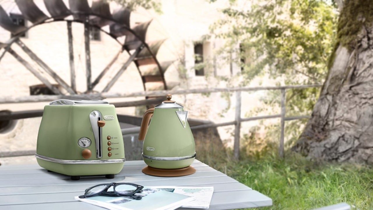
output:
[[[214,187],[152,186],[152,188],[194,197],[196,198],[194,201],[184,204],[182,207],[196,209],[209,208],[214,192]]]

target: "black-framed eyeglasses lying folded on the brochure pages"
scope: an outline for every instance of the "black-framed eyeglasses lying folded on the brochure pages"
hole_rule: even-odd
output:
[[[113,191],[107,191],[110,187],[113,187]],[[142,197],[135,194],[142,192],[142,188],[144,187],[133,183],[105,183],[85,189],[84,195],[80,195],[79,198],[103,195],[111,197],[127,196],[134,198],[135,200],[140,200]]]

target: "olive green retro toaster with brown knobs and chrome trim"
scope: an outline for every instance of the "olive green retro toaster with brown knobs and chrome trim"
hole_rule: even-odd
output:
[[[125,161],[115,106],[101,100],[50,102],[44,106],[35,156],[41,167],[72,180],[114,178]]]

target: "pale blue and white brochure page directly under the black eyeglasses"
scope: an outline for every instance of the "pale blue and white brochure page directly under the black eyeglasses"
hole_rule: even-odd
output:
[[[94,196],[89,198],[75,197],[75,200],[101,206],[111,210],[172,210],[189,203],[195,198],[187,195],[163,191],[145,187],[141,193],[141,200],[133,200],[131,197]]]

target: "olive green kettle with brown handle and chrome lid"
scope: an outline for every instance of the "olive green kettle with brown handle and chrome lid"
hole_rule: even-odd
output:
[[[139,133],[139,140],[144,140],[142,157],[148,166],[156,169],[187,168],[196,156],[194,138],[186,120],[188,111],[171,101],[170,94],[166,98],[142,117]]]

